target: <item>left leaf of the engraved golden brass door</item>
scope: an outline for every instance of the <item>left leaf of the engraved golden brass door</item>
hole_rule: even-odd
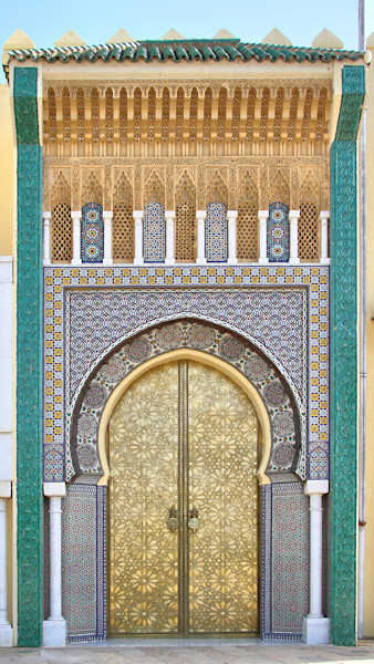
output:
[[[110,632],[179,632],[178,365],[146,373],[110,424]]]

